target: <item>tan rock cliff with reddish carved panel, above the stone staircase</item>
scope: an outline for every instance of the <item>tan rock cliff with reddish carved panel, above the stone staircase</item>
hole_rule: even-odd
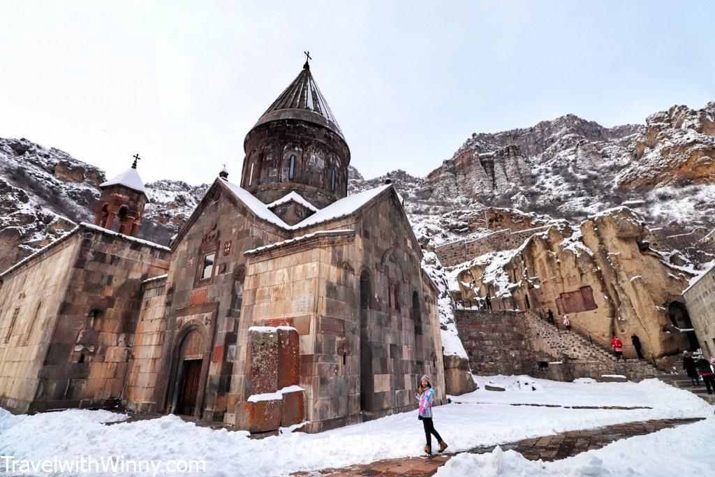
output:
[[[667,359],[688,348],[669,312],[692,276],[649,249],[643,217],[627,207],[561,223],[515,250],[475,257],[450,272],[465,297],[489,295],[495,309],[541,308],[568,314],[577,332],[606,345],[613,335],[641,338],[647,355]],[[676,305],[674,305],[674,303]],[[628,357],[635,357],[632,347]]]

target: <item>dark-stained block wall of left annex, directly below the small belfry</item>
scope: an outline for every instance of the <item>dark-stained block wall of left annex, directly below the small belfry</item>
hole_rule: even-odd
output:
[[[104,230],[77,234],[79,251],[30,410],[119,404],[142,281],[168,267],[164,247]]]

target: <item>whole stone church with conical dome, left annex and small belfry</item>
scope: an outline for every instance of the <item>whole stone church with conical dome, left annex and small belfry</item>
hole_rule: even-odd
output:
[[[350,149],[304,65],[169,247],[136,237],[131,169],[94,224],[0,274],[0,405],[119,407],[308,432],[445,400],[438,290],[390,184],[347,196]]]

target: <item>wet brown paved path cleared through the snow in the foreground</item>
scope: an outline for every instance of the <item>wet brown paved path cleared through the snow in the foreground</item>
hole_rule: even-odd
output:
[[[558,461],[576,456],[591,449],[600,449],[618,439],[673,428],[682,424],[700,421],[702,418],[661,419],[654,421],[638,421],[616,424],[583,431],[568,431],[553,436],[543,436],[536,439],[525,439],[501,446],[503,450],[513,449],[530,461]],[[470,449],[469,453],[487,453],[495,446]],[[318,472],[296,472],[295,476],[432,476],[437,469],[456,454],[436,454],[423,457],[406,457],[386,459],[364,465],[345,468],[326,468]]]

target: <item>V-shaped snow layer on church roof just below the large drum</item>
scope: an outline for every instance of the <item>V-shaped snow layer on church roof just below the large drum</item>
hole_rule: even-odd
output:
[[[273,225],[281,227],[284,230],[300,230],[304,227],[310,227],[311,225],[320,224],[321,222],[327,222],[328,220],[345,217],[346,215],[352,214],[360,207],[363,207],[363,205],[370,202],[370,200],[373,200],[380,194],[380,192],[383,192],[389,187],[392,187],[391,184],[385,184],[381,185],[380,187],[375,187],[374,189],[359,192],[358,194],[348,195],[347,197],[343,197],[340,200],[336,200],[335,202],[323,209],[317,210],[315,214],[305,218],[304,220],[298,222],[295,225],[287,225],[287,223],[283,222],[280,217],[275,215],[268,208],[270,207],[270,205],[265,205],[263,202],[258,200],[250,192],[243,189],[242,187],[235,185],[232,182],[228,182],[225,179],[221,180],[226,185],[226,187],[228,187],[229,190],[233,192],[234,195],[246,205],[246,207],[248,207],[253,213],[255,213],[255,215],[257,215],[263,220],[266,220],[267,222],[271,222]],[[300,197],[300,195],[298,195],[298,197]]]

